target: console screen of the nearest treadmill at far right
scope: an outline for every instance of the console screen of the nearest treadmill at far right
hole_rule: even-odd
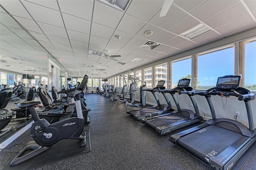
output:
[[[240,84],[241,77],[239,75],[218,77],[216,87],[218,89],[237,89]]]

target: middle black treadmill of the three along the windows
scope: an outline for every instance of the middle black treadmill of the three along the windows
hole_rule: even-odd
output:
[[[169,134],[176,129],[202,121],[203,118],[199,113],[196,101],[191,95],[194,90],[192,89],[192,87],[189,87],[189,83],[190,79],[180,79],[178,87],[175,87],[171,90],[161,90],[161,92],[165,91],[166,93],[170,93],[172,95],[177,110],[162,115],[144,118],[140,121],[148,127],[152,128],[153,130],[156,130],[156,132],[161,135]],[[176,98],[175,93],[187,94],[192,101],[196,114],[188,109],[180,109],[180,105],[178,103],[178,99]]]

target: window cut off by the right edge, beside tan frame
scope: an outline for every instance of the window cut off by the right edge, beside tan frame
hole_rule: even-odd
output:
[[[239,44],[239,74],[242,75],[240,87],[256,91],[256,38]]]

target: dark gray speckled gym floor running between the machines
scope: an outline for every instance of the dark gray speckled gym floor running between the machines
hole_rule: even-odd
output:
[[[37,170],[91,169],[91,170],[208,170],[168,138],[135,121],[127,115],[124,103],[111,101],[95,93],[84,95],[89,112],[92,151],[36,168]],[[0,169],[31,141],[29,130],[0,152]],[[199,143],[200,144],[200,143]],[[61,152],[61,150],[60,150]],[[50,155],[49,155],[50,156]],[[243,170],[256,169],[254,153]],[[17,166],[18,169],[18,166]]]

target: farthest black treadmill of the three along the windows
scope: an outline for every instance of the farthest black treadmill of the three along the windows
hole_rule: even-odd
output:
[[[142,89],[142,91],[150,91],[155,99],[156,99],[156,106],[152,106],[152,107],[147,107],[144,109],[138,109],[138,110],[132,110],[132,111],[126,111],[127,114],[129,114],[130,116],[134,117],[137,120],[146,118],[146,117],[151,117],[151,116],[155,116],[155,115],[161,115],[164,113],[169,113],[171,111],[174,111],[174,109],[172,109],[172,105],[171,105],[171,101],[169,100],[167,94],[165,92],[161,92],[164,95],[164,98],[167,101],[168,105],[165,104],[160,104],[160,101],[158,99],[158,95],[156,95],[156,92],[159,92],[161,89],[165,89],[164,87],[164,80],[158,81],[156,87],[154,87],[154,89]]]

